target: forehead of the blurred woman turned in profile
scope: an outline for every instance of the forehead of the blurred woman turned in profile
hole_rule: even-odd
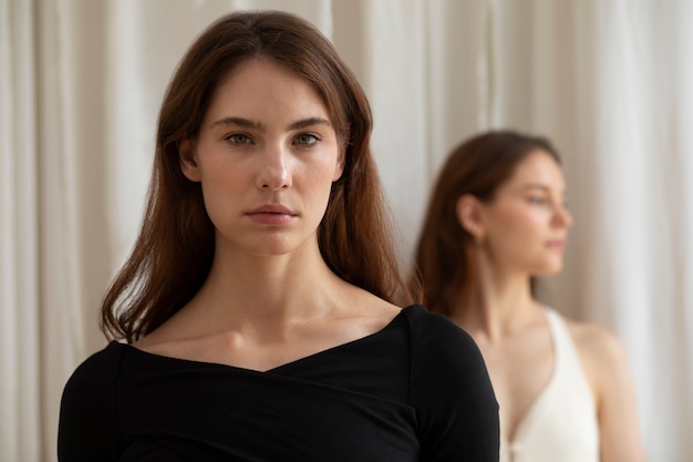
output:
[[[515,167],[504,186],[509,188],[544,186],[565,189],[560,165],[544,150],[536,150],[525,156]]]

